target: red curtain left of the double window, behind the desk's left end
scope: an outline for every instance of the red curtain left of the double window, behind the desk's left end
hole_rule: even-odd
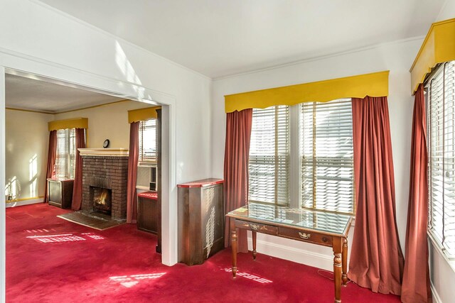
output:
[[[252,126],[252,109],[226,114],[226,142],[224,167],[225,212],[244,206],[248,202],[248,157]],[[237,248],[248,252],[247,231],[237,233]],[[225,247],[230,245],[230,220],[225,221]]]

